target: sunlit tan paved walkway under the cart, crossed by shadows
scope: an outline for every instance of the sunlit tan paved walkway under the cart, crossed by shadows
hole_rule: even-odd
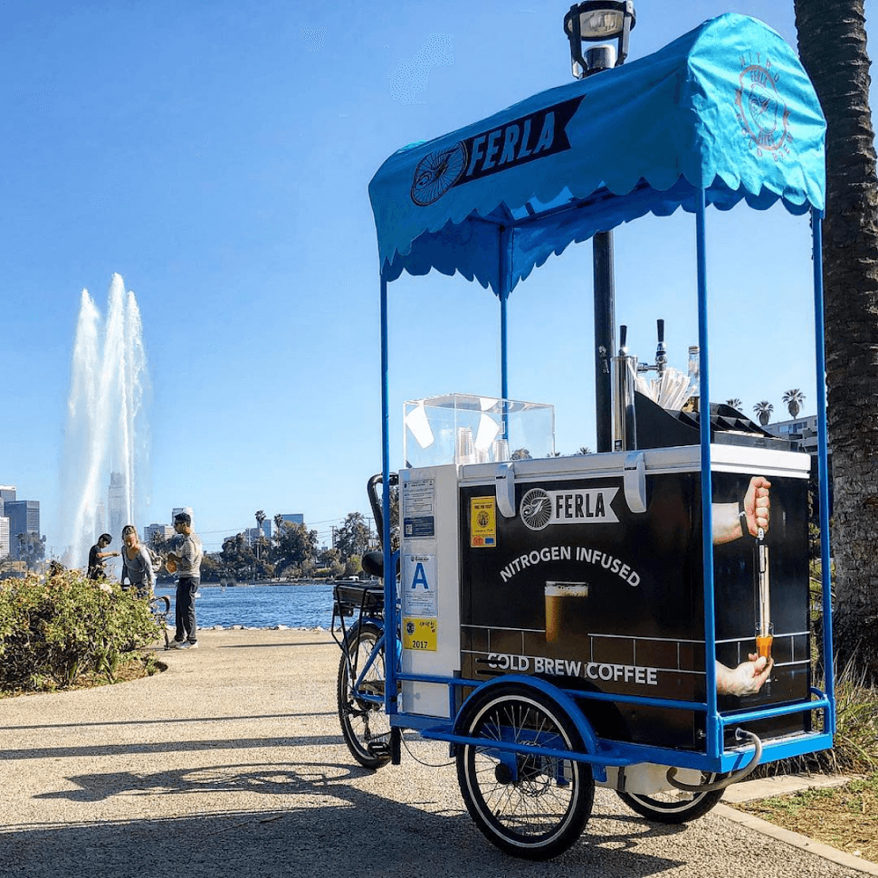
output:
[[[200,647],[159,653],[168,670],[148,680],[0,701],[0,874],[858,874],[722,811],[651,825],[606,790],[568,853],[511,860],[472,824],[441,745],[411,744],[430,766],[353,762],[326,632],[205,631]]]

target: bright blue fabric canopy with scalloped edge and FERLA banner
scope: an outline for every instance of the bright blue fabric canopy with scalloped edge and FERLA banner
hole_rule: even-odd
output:
[[[826,121],[796,52],[725,14],[635,62],[400,149],[369,184],[382,276],[461,272],[500,294],[635,217],[825,205]]]

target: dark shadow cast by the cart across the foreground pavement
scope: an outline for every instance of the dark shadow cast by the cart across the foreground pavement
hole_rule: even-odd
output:
[[[393,770],[388,768],[386,770]],[[293,874],[498,878],[512,870],[529,875],[647,876],[680,865],[637,854],[635,845],[667,827],[631,825],[595,815],[581,842],[545,864],[526,864],[501,854],[472,824],[463,804],[449,811],[437,802],[401,804],[360,787],[369,772],[348,765],[229,764],[138,775],[132,772],[70,778],[80,789],[45,797],[72,803],[100,797],[180,797],[181,809],[205,797],[216,807],[227,795],[265,797],[252,810],[138,821],[62,826],[9,826],[0,831],[0,872],[10,876],[164,878],[170,875]],[[127,808],[129,806],[126,806]],[[433,810],[431,810],[431,808]],[[624,831],[620,831],[624,826]],[[673,830],[672,830],[673,832]]]

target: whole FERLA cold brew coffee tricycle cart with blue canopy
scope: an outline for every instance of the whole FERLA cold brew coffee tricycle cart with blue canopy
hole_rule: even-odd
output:
[[[402,730],[447,741],[466,806],[509,854],[572,845],[594,787],[650,819],[701,816],[759,762],[832,746],[820,224],[825,121],[796,53],[738,14],[659,52],[403,148],[369,187],[381,265],[383,587],[339,586],[339,716],[369,768]],[[812,644],[810,457],[729,406],[665,407],[613,358],[613,450],[553,456],[553,409],[511,398],[507,302],[571,243],[648,213],[694,215],[710,400],[708,205],[778,202],[813,235],[824,624]],[[496,397],[406,403],[392,468],[388,286],[460,272],[500,304]],[[648,294],[644,294],[644,305]],[[410,306],[409,306],[410,307]],[[620,338],[623,332],[620,332]],[[612,353],[612,352],[611,352]],[[661,378],[663,339],[654,366]],[[522,449],[527,449],[523,452]],[[755,497],[770,483],[768,527]],[[398,548],[391,509],[398,501]],[[723,530],[724,529],[724,530]],[[723,688],[768,654],[768,682]],[[721,692],[718,692],[718,683]]]

